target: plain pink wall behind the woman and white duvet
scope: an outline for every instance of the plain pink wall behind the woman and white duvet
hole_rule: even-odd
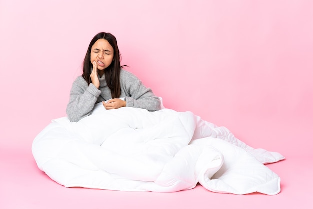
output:
[[[309,156],[312,10],[311,0],[0,0],[0,147],[29,151],[66,115],[88,44],[106,31],[165,107]]]

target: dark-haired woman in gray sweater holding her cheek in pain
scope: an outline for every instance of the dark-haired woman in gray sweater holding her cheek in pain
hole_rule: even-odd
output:
[[[70,91],[66,109],[68,119],[78,122],[90,115],[99,102],[106,109],[127,106],[149,111],[159,110],[161,104],[150,88],[121,68],[116,38],[106,32],[98,33],[89,44],[83,74],[77,77]]]

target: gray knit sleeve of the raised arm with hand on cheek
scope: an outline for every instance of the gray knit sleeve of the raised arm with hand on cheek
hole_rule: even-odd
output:
[[[88,83],[79,76],[70,90],[69,102],[66,113],[71,122],[78,122],[80,119],[91,114],[94,104],[101,94],[92,83]]]

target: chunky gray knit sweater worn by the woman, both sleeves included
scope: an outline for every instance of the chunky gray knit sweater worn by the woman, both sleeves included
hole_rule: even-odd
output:
[[[92,83],[88,85],[82,76],[77,77],[73,82],[66,108],[70,121],[78,122],[92,113],[94,104],[112,98],[104,75],[99,77],[99,80],[99,89]],[[123,69],[120,71],[120,88],[120,97],[125,97],[127,107],[143,108],[148,111],[160,110],[161,101],[152,90],[145,87],[135,75]]]

